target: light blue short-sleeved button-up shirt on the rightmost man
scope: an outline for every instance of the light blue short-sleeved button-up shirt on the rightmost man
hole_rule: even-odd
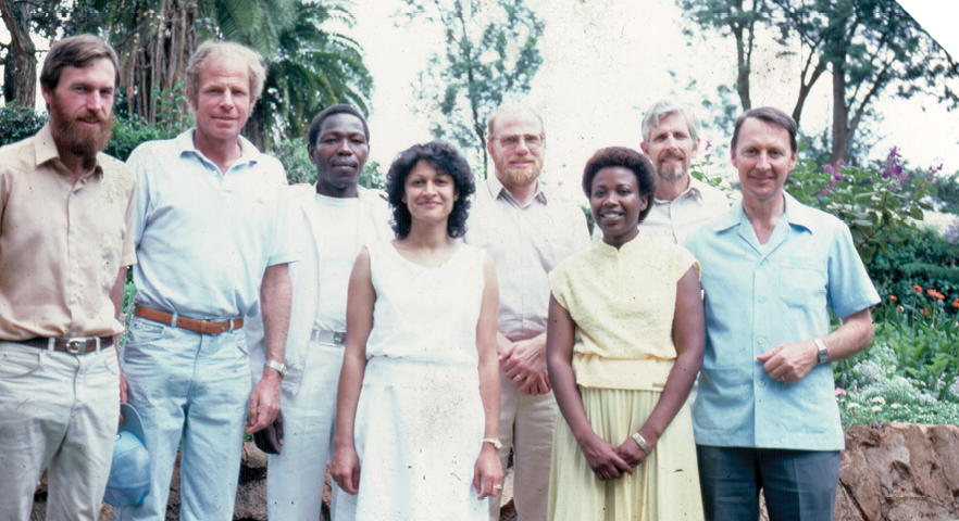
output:
[[[760,246],[743,204],[684,243],[702,266],[706,355],[693,427],[700,445],[842,450],[833,369],[797,383],[772,380],[756,357],[830,332],[830,309],[848,317],[880,302],[836,217],[785,196],[785,214]]]

